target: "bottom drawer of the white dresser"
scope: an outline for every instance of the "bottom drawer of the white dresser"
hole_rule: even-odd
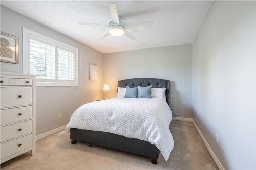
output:
[[[32,146],[32,135],[17,138],[0,145],[1,159]]]

